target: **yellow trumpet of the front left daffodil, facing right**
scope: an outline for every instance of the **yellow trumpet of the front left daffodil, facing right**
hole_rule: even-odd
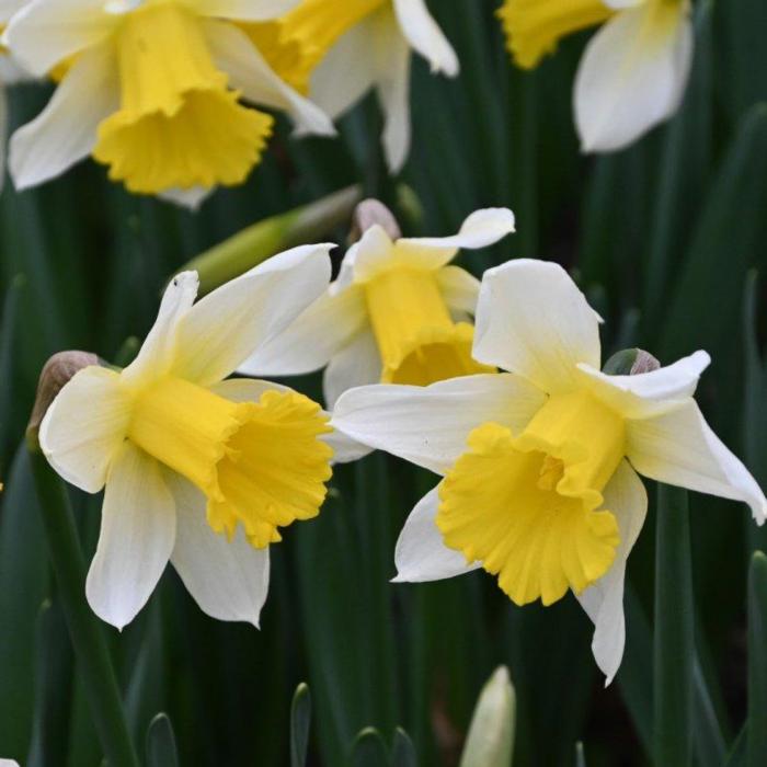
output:
[[[296,392],[234,403],[164,378],[137,397],[128,438],[205,493],[214,530],[231,536],[240,523],[262,548],[281,540],[277,527],[319,513],[328,432],[319,405]]]

